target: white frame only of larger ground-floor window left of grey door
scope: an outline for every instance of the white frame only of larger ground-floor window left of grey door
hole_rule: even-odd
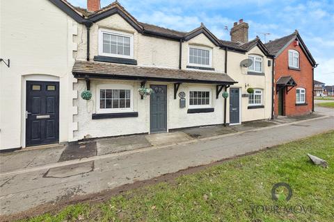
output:
[[[100,108],[100,89],[129,89],[130,108]],[[134,112],[134,87],[123,84],[99,84],[96,87],[96,113]]]

